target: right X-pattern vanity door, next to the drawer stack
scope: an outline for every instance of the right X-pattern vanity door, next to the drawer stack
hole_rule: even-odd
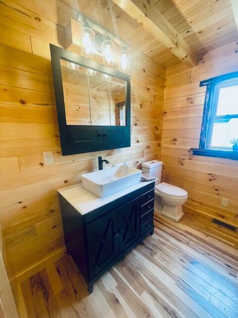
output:
[[[140,198],[118,209],[119,253],[129,247],[140,235]]]

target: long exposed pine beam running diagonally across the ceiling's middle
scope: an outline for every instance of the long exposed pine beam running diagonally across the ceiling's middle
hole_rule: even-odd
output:
[[[113,0],[121,9],[164,44],[188,67],[197,65],[197,56],[175,28],[150,0]]]

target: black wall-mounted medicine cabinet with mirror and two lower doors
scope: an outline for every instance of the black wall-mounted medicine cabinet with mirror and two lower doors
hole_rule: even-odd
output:
[[[50,49],[62,155],[130,147],[130,76]]]

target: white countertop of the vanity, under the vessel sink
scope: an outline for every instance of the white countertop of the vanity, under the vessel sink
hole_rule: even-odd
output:
[[[99,198],[88,190],[84,189],[82,183],[76,183],[65,188],[61,188],[58,192],[68,203],[70,203],[81,215],[94,211],[103,205],[106,205],[114,200],[117,200],[124,195],[138,190],[155,181],[141,181],[129,186],[116,193],[108,195],[104,198]]]

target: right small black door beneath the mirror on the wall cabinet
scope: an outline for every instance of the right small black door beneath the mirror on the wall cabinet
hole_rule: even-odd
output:
[[[117,148],[130,146],[130,135],[126,126],[103,126],[104,145],[117,145]]]

